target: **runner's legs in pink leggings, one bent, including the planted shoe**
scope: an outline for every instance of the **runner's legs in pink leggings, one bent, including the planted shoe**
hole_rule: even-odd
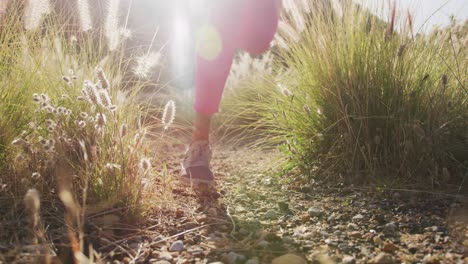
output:
[[[281,0],[217,0],[210,25],[197,43],[195,129],[183,162],[182,180],[211,184],[211,116],[219,111],[237,48],[258,54],[269,48],[278,26]]]

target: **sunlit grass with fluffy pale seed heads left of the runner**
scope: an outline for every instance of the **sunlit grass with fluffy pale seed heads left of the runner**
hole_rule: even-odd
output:
[[[131,76],[124,45],[110,52],[99,46],[105,36],[64,31],[54,11],[41,13],[34,29],[8,14],[0,22],[0,208],[8,215],[0,241],[22,233],[14,228],[31,211],[23,205],[30,190],[40,196],[34,217],[63,208],[58,198],[80,219],[115,207],[125,217],[143,212],[156,174],[152,127],[137,99],[146,81]],[[170,112],[166,129],[172,119]]]

